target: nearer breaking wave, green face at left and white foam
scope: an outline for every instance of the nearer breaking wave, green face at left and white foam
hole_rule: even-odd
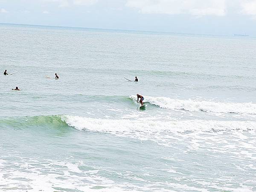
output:
[[[145,119],[96,119],[83,116],[53,115],[28,116],[0,119],[2,128],[68,128],[79,131],[111,133],[169,133],[186,131],[232,131],[256,130],[253,121],[215,121],[215,120],[182,120],[162,121]]]

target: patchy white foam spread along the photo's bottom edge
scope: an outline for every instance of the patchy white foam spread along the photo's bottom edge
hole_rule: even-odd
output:
[[[110,178],[102,177],[99,174],[99,170],[104,171],[101,168],[92,168],[94,171],[87,171],[79,169],[79,166],[87,166],[85,162],[71,163],[69,160],[50,160],[50,159],[33,159],[33,158],[22,158],[22,157],[12,157],[7,160],[8,157],[4,157],[6,160],[0,159],[0,190],[1,191],[72,191],[76,189],[77,191],[84,192],[127,192],[127,191],[168,191],[171,189],[180,189],[181,191],[204,191],[209,192],[210,189],[215,189],[216,191],[226,190],[226,191],[247,191],[252,192],[252,187],[239,185],[239,189],[234,189],[232,186],[233,180],[225,185],[219,183],[224,183],[222,180],[212,179],[210,181],[208,178],[206,180],[202,178],[195,177],[194,179],[188,179],[186,183],[180,183],[180,179],[174,178],[171,182],[168,181],[151,181],[145,180],[143,177],[138,175],[134,177],[132,172],[124,174],[118,172],[125,180],[129,179],[131,181],[140,182],[123,182],[120,180],[111,180]],[[13,159],[15,158],[15,160]],[[37,167],[35,165],[39,165]],[[198,166],[198,165],[197,165]],[[106,168],[106,167],[104,167]],[[180,169],[180,168],[175,168]],[[108,171],[107,172],[112,172]],[[176,172],[174,169],[162,169],[161,171],[182,174]],[[60,174],[61,173],[61,174]],[[103,174],[108,176],[108,174]],[[155,176],[145,173],[144,175]],[[111,177],[111,174],[109,175]],[[115,178],[115,177],[113,177]],[[153,177],[154,178],[154,177]],[[154,180],[154,179],[153,179]],[[161,178],[160,178],[161,180]],[[202,186],[199,184],[201,183]],[[253,181],[252,181],[253,183]],[[100,187],[100,188],[99,188]],[[167,188],[167,189],[166,189]],[[251,189],[250,189],[251,188]]]

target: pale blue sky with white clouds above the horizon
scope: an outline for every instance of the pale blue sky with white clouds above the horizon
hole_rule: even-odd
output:
[[[0,0],[0,23],[256,36],[256,0]]]

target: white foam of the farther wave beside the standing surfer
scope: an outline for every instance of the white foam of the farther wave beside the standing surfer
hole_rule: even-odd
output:
[[[130,96],[137,101],[137,96]],[[204,100],[181,100],[168,97],[145,96],[143,102],[149,102],[151,105],[157,105],[160,108],[186,111],[208,111],[218,113],[245,113],[256,114],[255,103],[233,103],[233,102],[213,102]]]

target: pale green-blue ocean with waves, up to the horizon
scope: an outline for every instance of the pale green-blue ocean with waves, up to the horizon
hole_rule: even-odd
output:
[[[0,24],[0,42],[1,192],[256,191],[256,38]]]

